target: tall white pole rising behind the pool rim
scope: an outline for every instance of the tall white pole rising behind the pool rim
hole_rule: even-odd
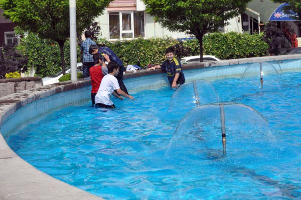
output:
[[[76,2],[69,0],[70,16],[70,67],[71,81],[77,81],[77,53],[76,53]]]

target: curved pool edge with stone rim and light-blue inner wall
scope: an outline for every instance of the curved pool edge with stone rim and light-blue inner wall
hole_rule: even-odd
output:
[[[297,61],[300,66],[296,66],[296,69],[301,69],[300,59],[301,55],[257,57],[190,64],[183,66],[183,69],[187,81],[193,80],[196,75],[199,79],[217,79],[241,75],[248,65],[257,62],[287,62],[282,69],[284,72],[292,69],[289,62]],[[161,70],[128,73],[124,79],[131,92],[168,85],[166,75]],[[0,98],[0,200],[102,199],[36,169],[11,150],[4,139],[11,131],[32,120],[32,113],[41,115],[58,107],[81,103],[89,98],[89,92],[90,81],[80,80],[47,85]]]

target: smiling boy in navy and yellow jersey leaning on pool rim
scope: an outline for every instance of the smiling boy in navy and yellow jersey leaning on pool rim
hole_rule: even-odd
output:
[[[168,48],[165,54],[167,60],[165,60],[161,65],[156,65],[148,69],[162,69],[163,72],[167,73],[167,78],[172,88],[178,88],[185,83],[185,77],[181,68],[181,62],[175,58],[173,48]]]

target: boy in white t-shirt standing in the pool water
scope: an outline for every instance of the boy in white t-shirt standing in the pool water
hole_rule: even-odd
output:
[[[134,97],[123,92],[118,84],[115,76],[119,73],[119,66],[115,62],[110,62],[108,64],[108,73],[102,78],[100,87],[95,96],[95,107],[100,108],[115,108],[115,105],[111,101],[112,94],[118,99],[123,100],[121,96],[134,99]],[[116,92],[117,93],[116,93]],[[121,96],[120,96],[121,95]]]

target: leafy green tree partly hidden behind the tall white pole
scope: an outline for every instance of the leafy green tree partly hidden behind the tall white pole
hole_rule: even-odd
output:
[[[77,0],[77,32],[82,33],[111,1]],[[4,16],[21,29],[59,44],[61,65],[65,74],[64,45],[70,35],[69,0],[0,0],[0,8],[4,10]]]

